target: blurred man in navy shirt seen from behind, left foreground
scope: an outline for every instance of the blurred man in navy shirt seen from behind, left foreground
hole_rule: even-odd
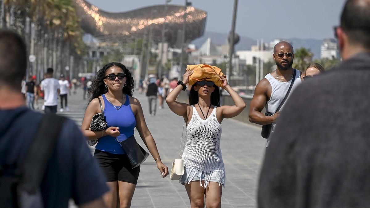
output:
[[[104,175],[74,121],[65,119],[63,125],[53,126],[45,123],[46,117],[62,118],[36,113],[26,107],[21,93],[21,81],[27,67],[26,54],[26,44],[18,34],[0,30],[1,207],[19,207],[16,203],[24,199],[22,202],[32,204],[30,207],[65,208],[71,198],[81,208],[106,207],[102,200],[102,195],[108,191]],[[51,70],[48,71],[50,74]],[[55,84],[54,81],[48,82]],[[48,141],[55,140],[55,145],[46,145],[48,142],[45,140],[40,142],[38,129],[48,132],[58,130],[56,138],[45,136]],[[36,134],[39,137],[35,137]],[[35,140],[40,144],[31,150],[30,147],[35,147]],[[45,152],[50,147],[49,157],[44,154],[26,157],[29,152]],[[47,160],[43,161],[45,157]],[[28,168],[24,168],[24,163]],[[40,168],[36,168],[35,172],[32,166]],[[44,170],[42,167],[45,167]],[[29,171],[34,175],[23,177],[30,176]],[[32,185],[24,188],[25,182]],[[19,191],[29,198],[17,194]]]

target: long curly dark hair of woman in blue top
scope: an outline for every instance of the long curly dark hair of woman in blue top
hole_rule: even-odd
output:
[[[99,70],[94,80],[92,80],[91,88],[88,92],[88,95],[91,95],[90,101],[108,92],[108,88],[105,87],[103,80],[105,79],[105,72],[113,66],[120,67],[126,74],[126,86],[123,87],[122,93],[132,97],[132,93],[134,93],[134,78],[132,78],[130,71],[123,64],[112,62]]]

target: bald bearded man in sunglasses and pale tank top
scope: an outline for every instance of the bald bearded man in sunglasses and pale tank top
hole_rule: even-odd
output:
[[[276,118],[280,113],[276,111],[279,105],[283,103],[292,80],[294,79],[294,83],[291,91],[301,83],[302,77],[302,72],[292,67],[294,50],[290,43],[286,41],[277,43],[273,52],[272,58],[275,60],[276,70],[267,74],[256,85],[249,107],[249,121],[260,125],[272,124],[271,132],[273,132]],[[293,77],[295,71],[296,75]],[[272,116],[262,114],[263,108],[266,108],[266,112],[270,112]],[[269,142],[268,139],[266,147],[268,147]]]

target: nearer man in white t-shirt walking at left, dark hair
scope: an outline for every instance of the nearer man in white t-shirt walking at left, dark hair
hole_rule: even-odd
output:
[[[44,91],[45,113],[57,113],[60,85],[58,80],[53,78],[53,73],[53,68],[48,68],[45,74],[46,78],[40,84],[40,89]]]

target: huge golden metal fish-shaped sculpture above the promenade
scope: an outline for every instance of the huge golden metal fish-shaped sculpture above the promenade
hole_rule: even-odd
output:
[[[132,40],[142,37],[144,31],[152,27],[152,40],[160,42],[162,26],[166,22],[165,39],[173,45],[184,23],[183,6],[168,5],[165,17],[165,5],[143,7],[124,13],[108,13],[85,0],[75,0],[75,3],[82,28],[102,40]],[[206,23],[206,11],[188,6],[186,13],[185,41],[201,37]]]

